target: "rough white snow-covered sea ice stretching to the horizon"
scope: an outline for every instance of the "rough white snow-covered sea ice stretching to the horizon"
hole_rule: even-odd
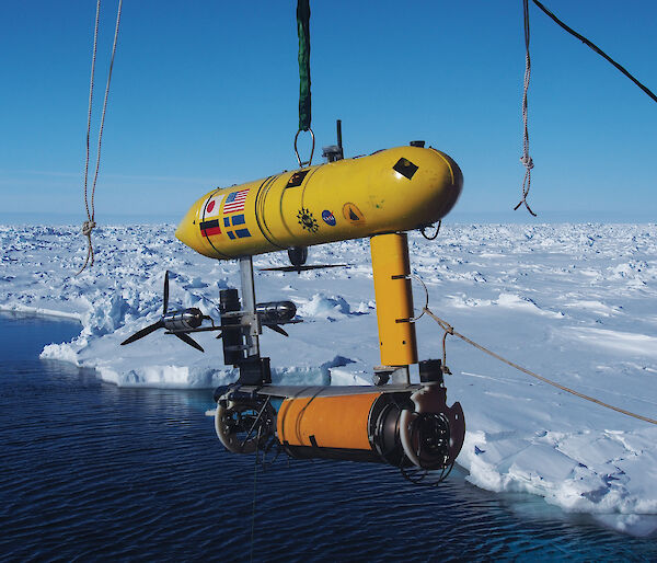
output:
[[[237,263],[197,255],[174,227],[104,227],[96,263],[77,227],[0,226],[0,308],[82,323],[42,357],[95,368],[118,386],[211,388],[234,380],[220,342],[206,354],[153,333],[118,344],[159,318],[164,271],[171,302],[218,318],[219,289],[239,286]],[[622,409],[657,418],[657,226],[443,226],[434,242],[412,234],[414,273],[429,306],[457,331],[533,371]],[[285,265],[284,254],[255,266]],[[366,240],[312,248],[309,263],[347,268],[256,272],[258,301],[290,299],[302,324],[261,347],[286,383],[369,384],[379,364]],[[416,286],[416,301],[423,290]],[[418,324],[420,357],[440,357],[442,331]],[[458,462],[491,491],[525,491],[638,533],[657,529],[657,426],[546,386],[448,338],[448,398],[468,434]]]

